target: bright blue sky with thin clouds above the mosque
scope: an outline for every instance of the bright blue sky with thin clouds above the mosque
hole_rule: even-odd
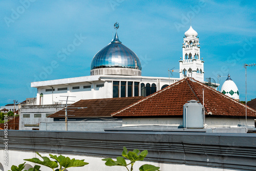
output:
[[[198,32],[205,78],[228,72],[245,100],[244,63],[256,62],[255,1],[0,1],[0,106],[35,97],[30,82],[90,75],[93,56],[119,39],[141,60],[143,76],[179,69],[184,32]],[[60,57],[62,49],[80,45]],[[73,46],[74,47],[74,46]],[[256,67],[247,99],[256,98]],[[174,73],[174,77],[179,77]]]

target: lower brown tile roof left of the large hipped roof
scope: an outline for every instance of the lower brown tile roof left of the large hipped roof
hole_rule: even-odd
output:
[[[81,108],[87,109],[70,109],[68,111],[69,118],[83,118],[83,117],[111,117],[111,113],[123,109],[125,106],[133,104],[134,102],[143,99],[144,97],[121,97],[121,98],[105,98],[105,99],[90,99],[79,100],[68,106],[68,108]],[[62,115],[62,116],[60,116]],[[65,111],[58,111],[48,117],[50,118],[63,118]],[[73,116],[69,116],[73,115]]]

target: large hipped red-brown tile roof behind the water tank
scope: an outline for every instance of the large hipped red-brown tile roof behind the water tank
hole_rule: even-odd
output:
[[[184,78],[126,108],[112,113],[116,118],[182,117],[183,105],[189,100],[203,104],[206,116],[245,117],[245,105],[191,78]],[[247,116],[256,111],[247,108]]]

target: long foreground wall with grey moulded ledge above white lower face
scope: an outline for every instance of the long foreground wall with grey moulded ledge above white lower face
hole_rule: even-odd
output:
[[[4,131],[0,131],[0,137],[0,155],[5,156]],[[135,170],[144,163],[160,166],[162,171],[256,170],[256,134],[8,131],[7,141],[8,167],[4,170],[23,163],[23,159],[38,157],[35,152],[43,156],[62,154],[90,163],[68,170],[125,170],[101,161],[121,156],[123,146],[129,151],[148,150],[145,162],[135,164]],[[3,157],[0,163],[4,165]]]

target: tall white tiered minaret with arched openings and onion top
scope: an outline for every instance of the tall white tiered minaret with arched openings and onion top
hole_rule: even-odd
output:
[[[204,61],[200,59],[200,44],[197,32],[190,26],[185,32],[180,58],[180,78],[192,77],[204,81]]]

